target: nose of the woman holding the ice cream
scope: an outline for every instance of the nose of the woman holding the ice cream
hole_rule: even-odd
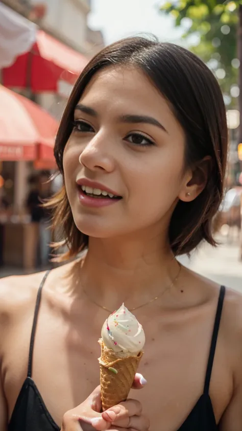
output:
[[[110,137],[101,130],[88,142],[79,156],[79,163],[90,171],[112,172],[114,158],[111,151]]]

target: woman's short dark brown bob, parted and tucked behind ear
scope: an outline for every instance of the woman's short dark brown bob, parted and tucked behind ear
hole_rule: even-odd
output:
[[[179,200],[174,210],[169,229],[173,253],[189,253],[203,239],[215,245],[212,220],[223,197],[228,143],[226,111],[214,75],[185,48],[131,37],[96,54],[77,80],[60,123],[54,150],[60,172],[63,174],[63,152],[72,131],[74,110],[86,85],[98,71],[122,65],[141,70],[170,104],[186,136],[185,165],[192,166],[206,156],[212,161],[203,192],[189,203]],[[54,226],[62,227],[61,244],[68,247],[64,258],[77,255],[88,246],[88,236],[74,223],[64,185],[50,205],[54,208]]]

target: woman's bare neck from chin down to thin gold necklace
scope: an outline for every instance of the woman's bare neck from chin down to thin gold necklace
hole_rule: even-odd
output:
[[[138,308],[167,290],[179,270],[168,241],[160,237],[89,238],[80,283],[90,301],[117,309]]]

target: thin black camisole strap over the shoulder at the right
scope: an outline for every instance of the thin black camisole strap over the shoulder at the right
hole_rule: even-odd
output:
[[[211,374],[212,374],[212,365],[213,365],[213,359],[214,359],[214,354],[215,354],[215,349],[216,349],[217,335],[219,334],[220,321],[221,321],[221,315],[222,315],[223,304],[224,304],[224,297],[225,297],[225,287],[221,286],[219,301],[217,303],[217,311],[216,311],[215,322],[214,322],[214,327],[213,327],[211,346],[210,346],[208,365],[207,365],[207,372],[206,372],[205,384],[204,384],[204,393],[206,393],[206,394],[209,393],[209,384],[210,384],[210,379],[211,379]]]

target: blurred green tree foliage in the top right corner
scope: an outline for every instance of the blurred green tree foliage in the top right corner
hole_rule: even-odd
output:
[[[241,4],[242,0],[171,0],[160,6],[163,13],[175,18],[176,26],[186,24],[183,37],[191,51],[215,73],[225,96],[231,96],[231,87],[238,82],[239,63],[235,59],[238,56],[236,39]],[[199,43],[192,43],[194,36],[198,36]],[[238,104],[236,97],[230,102],[228,97],[225,100],[229,107]]]

